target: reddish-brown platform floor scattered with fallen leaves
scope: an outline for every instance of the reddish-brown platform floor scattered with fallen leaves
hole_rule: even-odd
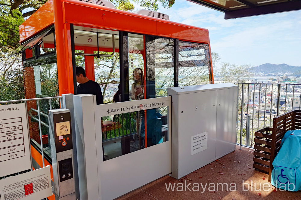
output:
[[[225,155],[224,157],[220,158],[218,162],[212,162],[211,164],[213,165],[208,164],[198,169],[196,171],[197,173],[188,174],[187,177],[190,178],[191,181],[188,181],[186,184],[188,185],[190,183],[190,186],[188,187],[192,190],[192,184],[198,183],[200,185],[199,191],[189,191],[188,189],[185,191],[185,183],[180,182],[179,180],[170,176],[165,176],[119,198],[119,200],[218,200],[220,198],[224,200],[301,200],[301,192],[287,192],[279,190],[277,192],[273,192],[275,187],[268,183],[268,175],[258,172],[252,168],[253,153],[250,152],[251,150],[252,149],[244,147],[242,150],[239,150],[239,146],[237,146],[235,153],[232,152],[228,155]],[[251,169],[249,169],[247,165],[250,166]],[[224,174],[220,174],[219,171]],[[264,176],[266,177],[266,180],[263,180]],[[185,180],[188,179],[183,178],[183,181]],[[169,183],[170,181],[175,184],[183,183],[184,191],[176,191],[177,185],[175,185],[175,191],[167,191],[165,183]],[[244,189],[247,190],[249,186],[249,191],[243,191],[243,181],[244,183],[247,183],[244,185]],[[207,187],[205,188],[204,192],[201,187],[201,183],[203,184],[203,187],[205,187],[207,183]],[[228,183],[228,191],[226,191],[225,186],[224,190],[221,191],[221,185],[219,185],[219,190],[215,193],[211,193],[208,188],[209,183],[215,183],[215,185],[217,185],[217,183]],[[230,191],[229,187],[231,183],[236,183],[236,191]],[[268,191],[263,190],[264,183],[268,184],[265,184],[265,190]],[[259,184],[261,184],[261,187]],[[260,191],[255,191],[255,187],[257,190],[260,189]],[[258,195],[259,192],[260,196]]]

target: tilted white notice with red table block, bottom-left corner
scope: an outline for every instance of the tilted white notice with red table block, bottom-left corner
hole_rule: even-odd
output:
[[[1,200],[40,200],[51,195],[49,165],[0,180]]]

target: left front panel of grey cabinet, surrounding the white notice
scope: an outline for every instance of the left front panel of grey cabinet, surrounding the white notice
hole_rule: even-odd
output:
[[[202,163],[215,158],[216,151],[216,96],[217,91],[178,95],[179,101],[179,158],[191,158],[189,162],[179,160],[178,176],[192,172]],[[197,107],[197,108],[196,108]],[[182,113],[183,111],[183,113]],[[207,149],[191,155],[191,137],[203,132],[208,133]]]

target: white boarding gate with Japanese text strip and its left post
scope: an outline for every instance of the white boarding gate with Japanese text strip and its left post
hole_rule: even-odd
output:
[[[73,100],[82,200],[115,199],[172,172],[171,97],[103,105],[96,105],[95,95],[74,95]],[[103,161],[102,117],[165,106],[165,142]]]

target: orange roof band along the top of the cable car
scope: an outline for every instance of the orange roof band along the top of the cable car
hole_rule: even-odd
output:
[[[54,24],[54,1],[60,2],[62,5],[62,10],[57,12],[64,23],[209,43],[208,29],[78,0],[49,0],[46,2],[19,26],[21,43]],[[60,31],[55,30],[55,32]]]

